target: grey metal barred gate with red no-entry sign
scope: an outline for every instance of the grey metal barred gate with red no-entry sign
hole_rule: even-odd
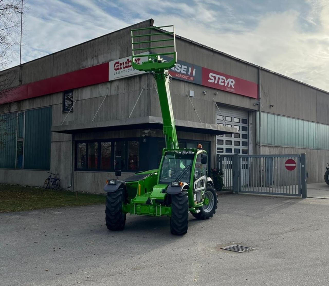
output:
[[[221,155],[223,190],[306,198],[305,154]]]

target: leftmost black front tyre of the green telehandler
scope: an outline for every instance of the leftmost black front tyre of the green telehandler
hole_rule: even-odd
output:
[[[105,205],[105,220],[109,230],[123,230],[126,224],[126,214],[122,212],[125,189],[119,187],[113,193],[107,193]]]

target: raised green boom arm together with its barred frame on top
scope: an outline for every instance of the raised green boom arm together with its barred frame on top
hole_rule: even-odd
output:
[[[163,28],[163,27],[172,27],[173,32],[150,33],[150,31],[152,31],[153,29]],[[139,33],[140,31],[145,31],[145,30],[148,31],[147,34],[136,35],[136,32]],[[139,39],[140,37],[150,37],[150,38],[152,36],[163,37],[164,35],[168,35],[168,34],[169,36],[173,35],[173,38],[134,42],[134,39],[136,38]],[[134,29],[131,30],[131,39],[132,39],[132,51],[133,51],[133,55],[132,55],[133,68],[140,71],[152,72],[157,82],[162,119],[164,123],[163,131],[166,141],[166,147],[170,149],[178,149],[179,147],[178,147],[176,127],[175,127],[175,119],[172,111],[171,97],[170,97],[169,84],[168,84],[168,77],[169,77],[168,69],[175,66],[176,64],[174,26],[171,25],[171,26],[162,26],[162,27],[148,27],[148,28]],[[134,48],[134,45],[151,44],[154,42],[164,42],[164,41],[173,41],[174,43],[173,45],[161,46],[161,44],[157,44],[156,47]],[[142,51],[147,49],[160,49],[160,48],[173,48],[174,51],[147,54],[146,55],[147,61],[143,61],[140,64],[135,62],[135,58],[141,57],[141,55],[140,54],[135,55],[134,51]],[[170,61],[165,61],[161,58],[161,55],[172,55],[173,59]],[[143,55],[143,57],[145,56]]]

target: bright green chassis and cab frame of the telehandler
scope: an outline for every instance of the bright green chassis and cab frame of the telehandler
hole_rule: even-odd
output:
[[[163,154],[166,151],[173,149],[164,149]],[[207,205],[209,201],[207,198],[203,200],[204,193],[206,189],[206,182],[204,184],[204,190],[201,191],[202,202],[194,202],[194,193],[193,193],[193,182],[194,182],[194,169],[196,164],[196,157],[200,153],[206,154],[206,151],[200,149],[179,149],[179,151],[189,151],[194,152],[194,159],[191,168],[191,176],[189,182],[189,188],[186,188],[188,191],[189,197],[189,211],[192,213],[198,212],[198,208]],[[122,205],[122,212],[130,214],[139,214],[139,215],[150,215],[150,216],[171,216],[171,207],[165,206],[166,196],[168,194],[165,192],[168,184],[158,184],[160,173],[163,165],[164,155],[162,156],[161,164],[159,169],[149,170],[145,172],[138,173],[136,175],[145,175],[140,180],[136,181],[125,181],[125,186],[127,190],[127,202]],[[131,178],[133,179],[133,175]]]

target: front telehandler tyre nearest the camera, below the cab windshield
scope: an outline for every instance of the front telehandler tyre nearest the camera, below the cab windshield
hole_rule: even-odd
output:
[[[189,197],[186,190],[171,195],[170,232],[175,235],[187,233],[189,223]]]

